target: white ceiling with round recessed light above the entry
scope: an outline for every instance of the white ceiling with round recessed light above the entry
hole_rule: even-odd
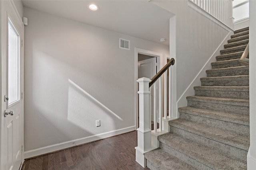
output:
[[[148,0],[22,0],[23,6],[97,27],[169,45],[170,12]],[[90,11],[95,3],[98,11]],[[28,18],[29,23],[29,18]],[[166,38],[160,42],[160,38]]]

